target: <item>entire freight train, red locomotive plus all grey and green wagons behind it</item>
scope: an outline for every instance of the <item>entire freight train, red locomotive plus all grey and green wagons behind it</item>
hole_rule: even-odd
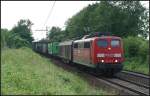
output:
[[[123,43],[117,36],[95,35],[63,42],[33,42],[33,49],[100,73],[114,75],[123,69]]]

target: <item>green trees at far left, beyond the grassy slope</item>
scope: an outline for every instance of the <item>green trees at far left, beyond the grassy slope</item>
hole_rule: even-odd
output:
[[[1,29],[1,48],[32,47],[32,22],[21,19],[11,30]]]

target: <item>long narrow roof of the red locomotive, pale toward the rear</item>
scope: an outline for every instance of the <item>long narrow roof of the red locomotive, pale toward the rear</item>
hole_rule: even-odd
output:
[[[80,39],[80,40],[75,40],[74,43],[76,42],[88,42],[88,41],[92,41],[92,40],[95,40],[97,38],[113,38],[113,39],[121,39],[120,37],[117,37],[117,36],[101,36],[101,37],[92,37],[92,38],[87,38],[87,39]]]

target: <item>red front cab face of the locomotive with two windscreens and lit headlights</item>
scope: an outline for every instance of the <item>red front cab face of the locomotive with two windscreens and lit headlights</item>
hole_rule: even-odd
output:
[[[95,47],[95,62],[98,70],[112,72],[112,74],[122,70],[124,56],[120,37],[102,36],[95,40]]]

